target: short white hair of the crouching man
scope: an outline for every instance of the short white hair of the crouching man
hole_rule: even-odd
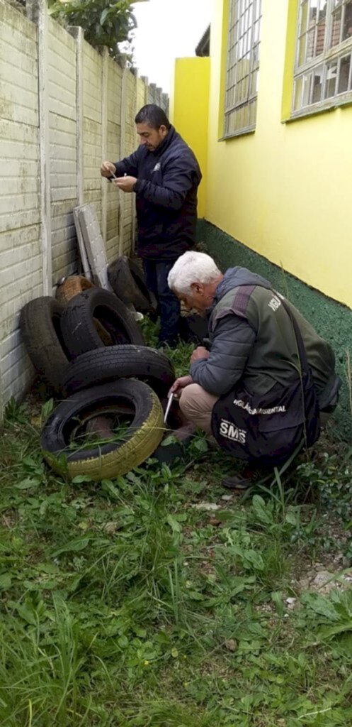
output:
[[[168,286],[171,290],[189,295],[192,293],[192,283],[208,284],[219,275],[221,270],[210,255],[189,250],[176,260],[168,273]]]

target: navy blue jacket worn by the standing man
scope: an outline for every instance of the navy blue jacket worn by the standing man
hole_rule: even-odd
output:
[[[140,145],[115,162],[118,177],[137,177],[137,252],[151,260],[176,260],[195,243],[197,187],[202,179],[192,149],[173,126],[155,151]]]

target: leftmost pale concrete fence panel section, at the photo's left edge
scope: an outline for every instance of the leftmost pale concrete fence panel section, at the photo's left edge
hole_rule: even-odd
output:
[[[18,331],[22,305],[42,291],[37,30],[0,4],[0,417],[30,364]]]

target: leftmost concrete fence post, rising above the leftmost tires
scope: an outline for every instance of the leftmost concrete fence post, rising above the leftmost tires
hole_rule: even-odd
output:
[[[50,199],[48,13],[46,0],[27,0],[26,10],[38,26],[39,150],[41,170],[41,256],[43,294],[52,294],[52,214]],[[56,282],[56,281],[54,281]]]

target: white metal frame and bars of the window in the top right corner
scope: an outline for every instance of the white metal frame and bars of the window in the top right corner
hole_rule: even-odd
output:
[[[352,102],[352,35],[342,40],[346,7],[350,4],[350,0],[327,0],[327,11],[325,20],[324,46],[322,53],[307,60],[306,52],[303,62],[300,62],[300,52],[304,43],[303,36],[308,31],[308,20],[306,28],[302,28],[304,7],[308,3],[308,14],[311,8],[311,2],[316,0],[299,0],[298,2],[298,20],[296,35],[296,52],[295,52],[295,71],[294,84],[292,93],[292,117],[306,116],[309,113],[324,111],[327,108],[333,108],[336,105]],[[324,0],[319,0],[321,3]],[[307,7],[307,6],[306,6]],[[317,13],[319,8],[318,4]],[[341,9],[340,20],[340,41],[332,45],[331,38],[333,32],[333,16]],[[318,19],[319,20],[319,19]],[[315,22],[315,31],[313,39],[314,52],[318,39],[319,22]],[[300,32],[303,31],[303,32]],[[313,36],[313,25],[311,25],[311,33]],[[306,36],[308,41],[308,35]],[[308,47],[308,42],[307,42]],[[347,79],[347,89],[341,88],[341,68],[343,63],[348,63],[349,72]],[[320,79],[320,84],[315,84],[316,79]],[[335,89],[332,88],[333,79],[335,79]],[[320,87],[320,98],[314,99],[316,87]]]

